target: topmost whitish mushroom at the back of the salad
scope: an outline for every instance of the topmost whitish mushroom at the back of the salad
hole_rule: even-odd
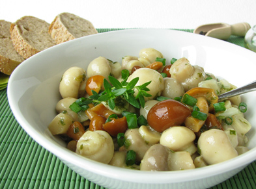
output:
[[[141,51],[139,51],[138,60],[140,62],[142,62],[145,67],[148,66],[149,64],[155,62],[156,58],[164,58],[162,53],[160,53],[156,49],[145,48],[145,49],[141,49]]]

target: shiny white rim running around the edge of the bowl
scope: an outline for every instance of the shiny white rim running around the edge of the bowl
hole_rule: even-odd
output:
[[[47,149],[48,151],[50,151],[57,157],[61,158],[61,160],[63,160],[64,162],[76,162],[76,166],[79,166],[81,168],[85,168],[85,164],[87,164],[86,170],[96,173],[98,175],[102,175],[104,177],[109,177],[111,179],[117,179],[117,180],[121,180],[121,181],[130,182],[132,180],[132,182],[134,182],[134,183],[149,183],[149,182],[150,183],[170,183],[170,181],[171,181],[172,183],[178,183],[178,182],[183,182],[184,179],[186,179],[186,181],[194,180],[193,177],[205,178],[205,177],[209,177],[209,176],[213,176],[213,175],[218,175],[218,174],[220,174],[220,167],[221,167],[221,170],[223,170],[223,171],[221,171],[221,173],[225,173],[227,171],[234,170],[235,168],[247,166],[249,163],[253,162],[253,160],[256,160],[256,147],[253,147],[253,149],[250,149],[248,152],[246,152],[242,155],[239,155],[238,157],[235,157],[231,160],[227,160],[225,162],[221,162],[219,164],[206,166],[205,168],[199,168],[199,169],[194,169],[194,170],[182,170],[182,171],[159,171],[157,173],[150,172],[150,171],[127,170],[124,168],[117,168],[114,166],[102,164],[100,162],[96,162],[94,160],[90,160],[90,159],[81,157],[80,155],[78,155],[76,153],[73,154],[71,151],[68,151],[68,149],[62,149],[62,148],[59,148],[55,144],[50,144],[44,140],[45,139],[44,136],[42,136],[40,133],[38,133],[36,131],[36,129],[28,126],[30,124],[27,120],[24,120],[23,116],[21,116],[20,110],[18,109],[18,106],[16,105],[16,103],[14,101],[15,94],[12,93],[12,91],[14,90],[12,88],[12,82],[14,81],[14,79],[16,77],[16,73],[18,73],[18,71],[20,69],[22,69],[23,66],[25,66],[25,64],[30,64],[30,62],[33,62],[34,59],[36,59],[40,56],[43,56],[45,53],[47,54],[49,51],[51,51],[51,49],[57,49],[57,48],[68,46],[70,44],[75,44],[76,42],[79,42],[81,40],[86,40],[87,38],[96,38],[97,37],[96,35],[108,36],[108,35],[112,35],[113,33],[117,33],[117,32],[126,34],[127,32],[147,32],[147,31],[160,31],[160,32],[168,31],[168,32],[173,32],[173,33],[180,33],[180,34],[190,35],[190,36],[197,37],[197,38],[204,38],[206,42],[212,42],[212,40],[214,40],[214,41],[218,40],[218,39],[210,38],[207,36],[201,36],[198,34],[193,34],[193,33],[186,32],[186,31],[177,31],[177,30],[173,30],[173,29],[125,29],[125,30],[119,30],[119,31],[109,31],[109,32],[102,32],[102,33],[98,33],[98,34],[92,34],[91,36],[85,36],[85,37],[78,38],[78,39],[75,39],[75,40],[72,40],[69,42],[65,42],[63,44],[59,44],[59,45],[50,47],[49,49],[46,49],[46,50],[34,55],[33,57],[25,60],[22,64],[20,64],[20,66],[18,66],[14,70],[12,75],[10,75],[9,84],[7,87],[7,96],[8,96],[8,102],[9,102],[10,108],[11,108],[16,120],[18,121],[18,123],[21,125],[21,127],[23,127],[25,132],[27,132],[27,134],[29,134],[29,136],[31,136],[31,138],[33,138],[36,142],[38,142],[38,144],[42,145],[42,147],[44,147],[45,149]],[[235,47],[234,44],[225,42],[223,40],[219,40],[218,43],[223,44],[223,45],[228,45],[228,47],[231,47],[231,48]],[[251,55],[253,55],[253,53],[254,53],[252,51],[249,51],[248,49],[239,47],[238,45],[236,45],[235,48],[240,48],[240,51],[243,51],[246,53],[252,53]],[[255,55],[256,55],[256,53],[255,53]],[[36,133],[36,135],[35,135],[35,133]],[[55,147],[57,147],[57,150]],[[66,156],[67,151],[68,151],[68,153],[70,153],[70,155],[68,155],[68,156]],[[242,159],[243,161],[239,162],[240,159]],[[239,162],[239,164],[238,164],[238,162]],[[231,166],[234,164],[236,166]],[[129,177],[120,177],[120,175],[126,175],[128,173],[129,173]],[[188,175],[191,175],[191,173],[193,173],[193,177],[188,177]],[[205,173],[208,173],[208,174],[205,174]],[[157,175],[157,177],[156,177],[156,175]]]

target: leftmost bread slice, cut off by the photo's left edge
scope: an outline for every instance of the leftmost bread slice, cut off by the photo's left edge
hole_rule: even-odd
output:
[[[10,25],[9,21],[0,20],[0,71],[7,75],[24,60],[12,45]]]

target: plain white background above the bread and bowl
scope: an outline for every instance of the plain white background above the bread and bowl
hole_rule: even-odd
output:
[[[256,0],[0,0],[0,19],[35,16],[51,23],[70,12],[100,28],[195,29],[206,23],[256,25]]]

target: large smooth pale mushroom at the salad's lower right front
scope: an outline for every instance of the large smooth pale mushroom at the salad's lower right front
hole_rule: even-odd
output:
[[[227,134],[219,129],[210,129],[203,132],[197,145],[203,159],[210,165],[238,156]]]

